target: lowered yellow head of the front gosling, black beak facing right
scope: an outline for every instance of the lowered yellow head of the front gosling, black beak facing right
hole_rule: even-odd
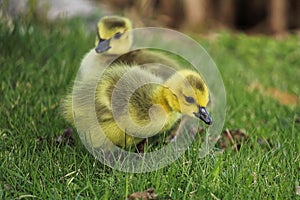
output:
[[[196,117],[211,125],[212,119],[206,106],[209,91],[201,76],[191,70],[181,70],[165,83],[165,98],[169,106],[182,114]]]

